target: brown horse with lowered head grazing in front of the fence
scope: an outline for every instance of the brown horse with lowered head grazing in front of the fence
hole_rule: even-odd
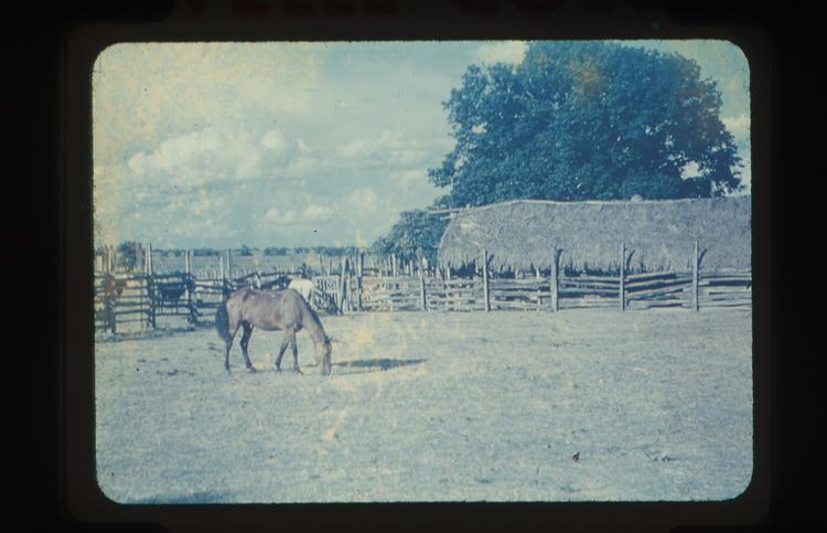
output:
[[[266,331],[283,330],[284,340],[281,342],[279,354],[276,356],[276,370],[281,371],[281,356],[287,347],[292,348],[293,370],[299,370],[299,349],[296,345],[296,333],[304,329],[313,339],[316,353],[315,361],[322,369],[323,375],[331,371],[330,354],[332,351],[331,340],[322,328],[319,316],[308,306],[299,292],[284,290],[256,290],[244,287],[236,290],[218,306],[215,316],[215,327],[218,334],[224,339],[226,352],[224,354],[224,369],[229,372],[229,349],[238,328],[244,328],[241,335],[241,353],[248,370],[253,369],[250,358],[247,354],[247,344],[254,328]]]

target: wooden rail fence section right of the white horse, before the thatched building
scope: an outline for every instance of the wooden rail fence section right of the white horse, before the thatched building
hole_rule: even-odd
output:
[[[692,250],[692,270],[686,273],[627,274],[625,264],[631,254],[625,245],[621,245],[620,254],[623,259],[614,276],[567,275],[559,265],[560,250],[554,250],[548,275],[540,276],[536,270],[535,276],[520,279],[488,273],[487,252],[484,252],[479,275],[471,278],[451,278],[444,274],[429,277],[426,268],[415,268],[418,276],[359,277],[346,285],[352,290],[345,290],[344,298],[358,302],[350,306],[351,309],[363,311],[558,311],[593,307],[699,310],[701,307],[749,308],[752,305],[752,273],[701,273],[702,252],[698,243]],[[340,296],[336,301],[341,300]]]

